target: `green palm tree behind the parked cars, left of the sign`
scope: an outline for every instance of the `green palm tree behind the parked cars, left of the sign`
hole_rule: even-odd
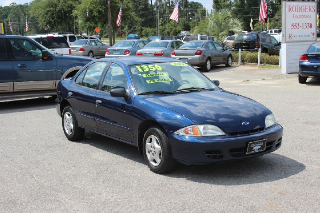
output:
[[[223,40],[229,33],[240,33],[242,21],[238,18],[232,18],[229,10],[213,12],[208,18],[202,20],[193,30],[194,34],[214,35],[218,43],[224,46]]]

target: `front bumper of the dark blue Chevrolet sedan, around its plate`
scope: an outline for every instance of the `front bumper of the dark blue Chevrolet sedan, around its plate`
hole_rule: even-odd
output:
[[[262,132],[241,136],[187,137],[168,132],[172,156],[184,164],[204,164],[260,156],[280,148],[283,127],[276,124]],[[266,139],[262,152],[246,154],[249,142]]]

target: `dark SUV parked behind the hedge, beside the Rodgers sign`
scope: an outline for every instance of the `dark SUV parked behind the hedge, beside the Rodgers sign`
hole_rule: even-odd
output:
[[[258,51],[260,47],[260,37],[261,33],[259,32],[241,33],[235,38],[234,49],[237,50],[240,48],[247,51]],[[278,43],[273,36],[262,33],[261,49],[264,53],[279,55],[281,43]]]

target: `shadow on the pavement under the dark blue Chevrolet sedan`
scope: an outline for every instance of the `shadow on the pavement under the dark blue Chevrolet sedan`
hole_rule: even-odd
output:
[[[85,134],[85,139],[80,143],[92,145],[147,166],[135,146],[88,131]],[[271,153],[223,163],[189,166],[180,164],[175,171],[165,174],[165,176],[214,185],[247,185],[284,179],[298,174],[304,169],[305,165],[296,160]]]

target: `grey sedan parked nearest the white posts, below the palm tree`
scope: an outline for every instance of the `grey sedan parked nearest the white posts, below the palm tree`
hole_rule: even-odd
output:
[[[214,41],[194,40],[172,51],[171,58],[179,59],[192,66],[201,66],[203,71],[210,71],[211,65],[232,65],[232,54]]]

